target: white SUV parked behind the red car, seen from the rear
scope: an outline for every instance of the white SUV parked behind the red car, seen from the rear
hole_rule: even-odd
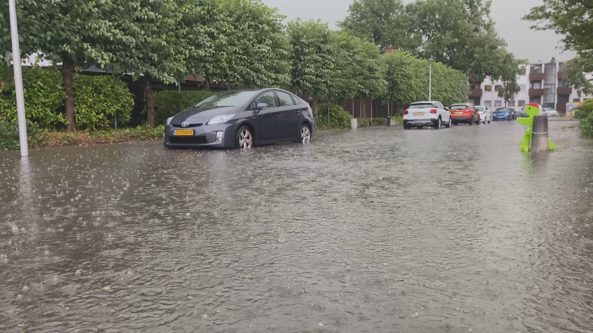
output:
[[[417,127],[422,129],[425,126],[441,129],[441,126],[451,127],[451,113],[441,102],[424,101],[410,104],[404,111],[404,129]]]

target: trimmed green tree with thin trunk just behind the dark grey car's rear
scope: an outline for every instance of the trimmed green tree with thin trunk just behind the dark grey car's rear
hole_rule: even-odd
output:
[[[321,21],[295,20],[288,23],[292,46],[290,85],[313,97],[313,114],[317,119],[319,98],[329,95],[334,69],[330,30]]]

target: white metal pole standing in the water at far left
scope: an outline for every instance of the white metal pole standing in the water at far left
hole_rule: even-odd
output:
[[[14,88],[17,94],[18,137],[21,143],[21,156],[28,156],[29,146],[27,143],[25,98],[23,96],[23,73],[21,73],[21,50],[18,47],[17,8],[14,2],[15,0],[8,0],[10,36],[12,38],[12,68],[14,69]]]

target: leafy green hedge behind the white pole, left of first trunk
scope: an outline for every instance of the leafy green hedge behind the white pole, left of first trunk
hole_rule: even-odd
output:
[[[17,104],[12,66],[0,66],[0,120],[17,122]],[[68,123],[59,110],[65,93],[57,69],[23,67],[23,92],[27,120],[44,127]]]

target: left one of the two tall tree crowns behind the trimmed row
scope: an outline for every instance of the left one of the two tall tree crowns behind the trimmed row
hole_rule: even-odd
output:
[[[410,46],[407,16],[401,0],[355,0],[348,11],[350,14],[338,23],[344,31],[371,41],[381,49]]]

